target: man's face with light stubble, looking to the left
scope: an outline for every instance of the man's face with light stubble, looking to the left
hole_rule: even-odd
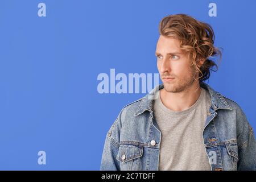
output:
[[[190,67],[188,53],[180,49],[179,40],[160,35],[156,44],[156,57],[164,90],[182,92],[192,86],[196,71]]]

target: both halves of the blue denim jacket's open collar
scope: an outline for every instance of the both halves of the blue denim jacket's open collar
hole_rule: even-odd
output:
[[[200,86],[210,93],[211,98],[211,106],[214,110],[218,109],[228,109],[232,110],[233,108],[228,105],[225,98],[219,93],[213,90],[208,84],[206,84],[203,81],[199,82]],[[148,93],[146,96],[144,96],[141,100],[141,104],[139,105],[136,113],[134,115],[142,114],[144,111],[152,111],[153,109],[153,101],[159,97],[159,90],[163,89],[163,84],[155,86],[154,89],[151,90],[150,93]]]

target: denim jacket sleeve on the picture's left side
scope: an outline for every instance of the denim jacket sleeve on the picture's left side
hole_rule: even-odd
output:
[[[121,111],[122,112],[122,111]],[[110,127],[108,134],[106,135],[104,150],[101,158],[101,171],[119,171],[120,163],[116,159],[119,150],[119,136],[121,130],[121,113],[119,113],[117,119]]]

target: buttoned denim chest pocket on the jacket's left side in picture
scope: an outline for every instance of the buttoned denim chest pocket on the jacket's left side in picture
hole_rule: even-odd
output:
[[[117,160],[120,162],[121,171],[135,171],[142,169],[143,146],[135,144],[120,144]]]

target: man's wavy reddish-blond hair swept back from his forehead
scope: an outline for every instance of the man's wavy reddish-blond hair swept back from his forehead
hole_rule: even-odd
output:
[[[221,60],[222,53],[213,45],[214,32],[208,23],[185,14],[169,15],[160,21],[159,33],[180,40],[180,48],[188,53],[191,67],[199,73],[199,81],[207,80],[210,70],[218,70],[218,65],[210,58],[219,56]],[[200,64],[200,60],[204,60],[204,63]],[[216,67],[216,70],[212,67]]]

